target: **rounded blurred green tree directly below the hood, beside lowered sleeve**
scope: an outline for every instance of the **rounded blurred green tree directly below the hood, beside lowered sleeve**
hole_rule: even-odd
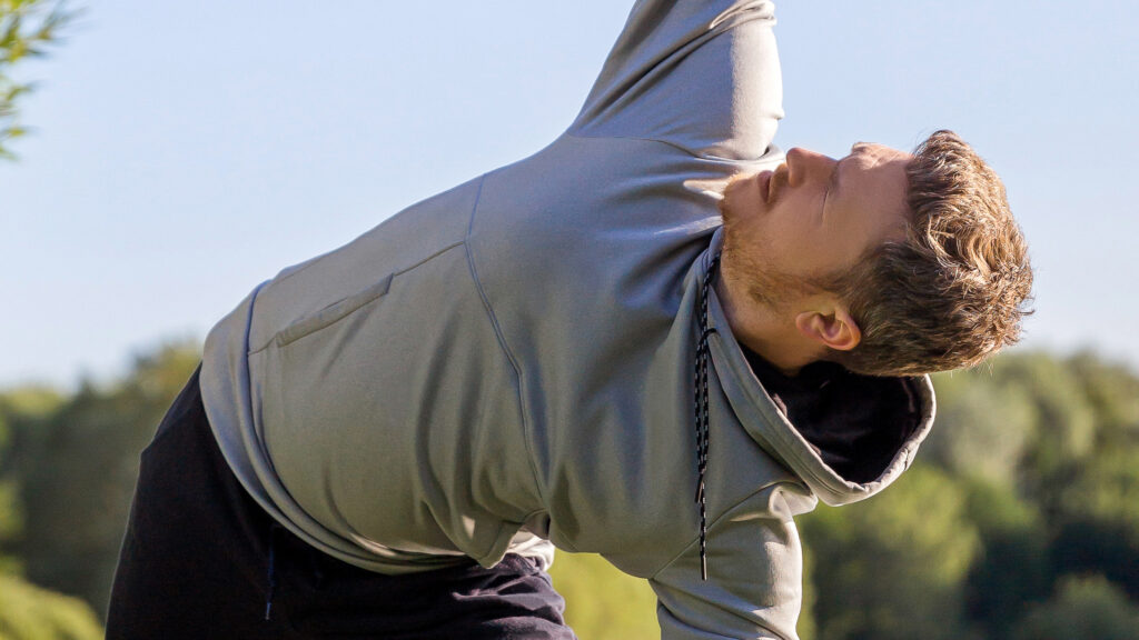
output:
[[[818,640],[969,638],[962,585],[978,550],[966,492],[915,466],[882,495],[801,519]]]

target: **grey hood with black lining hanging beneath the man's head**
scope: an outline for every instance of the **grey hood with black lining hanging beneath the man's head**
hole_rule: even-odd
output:
[[[699,278],[703,279],[707,272],[712,259],[719,254],[723,244],[723,229],[719,229],[712,238],[708,249],[699,260]],[[875,451],[874,457],[882,460],[880,471],[871,474],[871,477],[844,477],[839,470],[828,465],[826,456],[816,444],[812,444],[804,433],[811,433],[808,427],[818,425],[803,425],[797,428],[785,415],[785,410],[777,404],[776,399],[768,393],[760,379],[756,377],[747,354],[728,326],[723,307],[715,295],[715,290],[708,292],[707,322],[710,329],[715,329],[708,339],[711,360],[715,375],[724,389],[731,408],[739,419],[744,429],[755,442],[763,448],[776,460],[798,476],[820,500],[830,506],[847,504],[863,500],[878,493],[892,482],[894,482],[913,461],[918,446],[929,433],[935,413],[935,400],[933,383],[928,376],[903,377],[903,378],[870,378],[849,374],[851,388],[860,389],[886,389],[893,387],[894,393],[868,392],[863,397],[857,400],[859,410],[847,410],[844,407],[831,407],[826,411],[826,425],[830,429],[842,428],[844,417],[861,417],[861,419],[874,419],[880,416],[912,416],[909,424],[884,424],[883,429],[890,429],[898,434],[896,437],[885,438],[888,451]],[[899,389],[899,387],[901,387]],[[849,402],[850,393],[839,394]],[[902,399],[902,400],[900,400]],[[870,403],[880,402],[904,402],[913,407],[868,407]],[[793,415],[794,418],[794,415]],[[852,425],[860,429],[866,429],[867,425]],[[883,438],[876,442],[882,446]],[[818,440],[816,441],[818,442]],[[863,481],[863,482],[858,482]]]

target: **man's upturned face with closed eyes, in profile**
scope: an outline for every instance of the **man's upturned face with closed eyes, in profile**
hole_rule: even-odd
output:
[[[868,251],[902,237],[907,153],[859,142],[834,159],[793,148],[776,171],[724,189],[723,269],[772,307],[817,293]]]

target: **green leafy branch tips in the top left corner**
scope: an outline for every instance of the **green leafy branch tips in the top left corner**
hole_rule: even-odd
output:
[[[33,89],[13,80],[8,69],[24,58],[43,56],[74,16],[62,1],[0,0],[0,157],[11,158],[8,142],[26,132],[16,118],[17,104]]]

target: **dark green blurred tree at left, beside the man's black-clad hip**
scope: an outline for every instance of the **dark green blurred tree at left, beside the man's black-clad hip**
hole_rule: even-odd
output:
[[[48,413],[14,413],[27,577],[105,612],[139,453],[198,362],[186,345],[136,359],[110,388],[84,383]]]

